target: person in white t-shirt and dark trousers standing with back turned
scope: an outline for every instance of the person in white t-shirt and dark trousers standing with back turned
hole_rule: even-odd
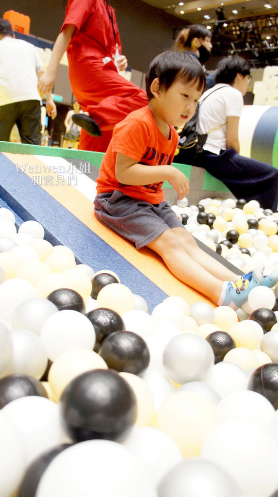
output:
[[[0,19],[0,141],[9,141],[16,123],[22,143],[41,144],[41,97],[38,78],[43,64],[34,45],[13,37],[11,24]],[[46,93],[46,109],[56,117],[51,93]]]

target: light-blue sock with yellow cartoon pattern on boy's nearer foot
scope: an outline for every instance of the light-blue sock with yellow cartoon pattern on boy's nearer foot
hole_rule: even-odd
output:
[[[224,281],[218,306],[229,306],[237,309],[246,302],[250,290],[259,286],[263,280],[263,264],[253,271],[240,276],[235,281]]]

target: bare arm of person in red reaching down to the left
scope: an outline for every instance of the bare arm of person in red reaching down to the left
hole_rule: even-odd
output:
[[[48,67],[39,79],[39,91],[46,92],[52,90],[60,61],[68,48],[75,29],[76,27],[74,24],[67,24],[63,31],[59,34],[54,44]]]

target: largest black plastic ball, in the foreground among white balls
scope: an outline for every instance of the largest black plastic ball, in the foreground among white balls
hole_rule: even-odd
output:
[[[65,388],[60,409],[62,422],[75,442],[102,438],[122,441],[137,418],[133,389],[118,373],[86,371]]]

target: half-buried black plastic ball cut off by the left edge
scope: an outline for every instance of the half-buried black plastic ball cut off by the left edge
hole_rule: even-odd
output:
[[[0,409],[15,399],[30,395],[48,399],[42,383],[32,376],[14,373],[0,379]]]

